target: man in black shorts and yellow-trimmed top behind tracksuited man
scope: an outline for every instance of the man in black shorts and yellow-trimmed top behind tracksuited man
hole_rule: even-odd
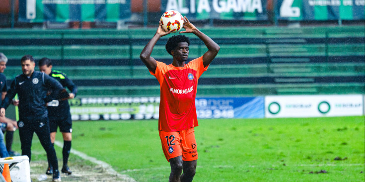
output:
[[[42,58],[38,62],[39,70],[52,78],[56,79],[64,88],[68,88],[71,93],[70,98],[74,98],[77,93],[77,87],[73,82],[62,72],[52,70],[52,61],[48,58]],[[62,150],[63,155],[63,167],[61,172],[66,175],[71,175],[72,171],[67,165],[69,161],[71,151],[71,140],[72,140],[72,120],[70,113],[70,105],[68,100],[52,100],[47,105],[48,119],[51,131],[51,142],[52,145],[55,143],[57,128],[60,127],[62,136],[64,137],[64,147]],[[47,175],[52,175],[53,168],[48,163]]]

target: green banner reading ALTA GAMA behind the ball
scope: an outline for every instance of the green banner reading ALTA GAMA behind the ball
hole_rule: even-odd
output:
[[[161,0],[161,14],[174,9],[189,19],[267,20],[267,0]]]

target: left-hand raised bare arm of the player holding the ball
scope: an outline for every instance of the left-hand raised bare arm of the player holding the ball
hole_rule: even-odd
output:
[[[151,71],[152,73],[155,73],[156,67],[157,67],[156,60],[151,57],[153,47],[154,47],[154,45],[156,45],[156,42],[158,41],[159,38],[161,38],[171,32],[172,32],[172,30],[165,32],[161,27],[161,22],[159,22],[156,33],[154,34],[152,39],[147,43],[147,45],[145,46],[145,48],[142,50],[142,52],[140,54],[140,58],[141,58],[142,62],[146,65],[148,70]]]

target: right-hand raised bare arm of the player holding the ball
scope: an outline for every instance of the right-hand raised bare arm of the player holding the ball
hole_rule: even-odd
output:
[[[203,65],[204,67],[207,67],[217,56],[220,49],[219,45],[215,41],[213,41],[210,37],[208,37],[206,34],[201,32],[192,23],[190,23],[190,21],[188,20],[188,18],[186,18],[186,16],[184,16],[184,28],[185,31],[181,31],[180,33],[194,33],[207,46],[208,51],[203,55]]]

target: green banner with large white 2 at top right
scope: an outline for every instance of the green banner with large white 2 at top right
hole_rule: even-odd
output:
[[[283,20],[364,20],[365,0],[277,0]]]

